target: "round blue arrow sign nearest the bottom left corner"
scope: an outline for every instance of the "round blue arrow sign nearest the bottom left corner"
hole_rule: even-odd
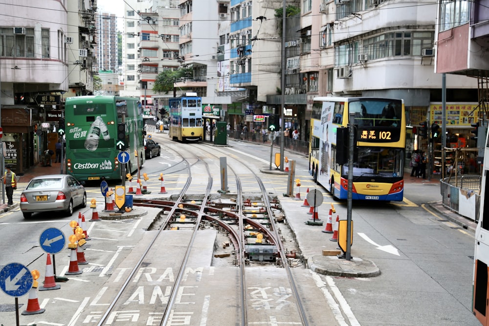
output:
[[[11,297],[22,297],[29,292],[33,282],[30,271],[19,263],[5,265],[0,271],[0,287]]]

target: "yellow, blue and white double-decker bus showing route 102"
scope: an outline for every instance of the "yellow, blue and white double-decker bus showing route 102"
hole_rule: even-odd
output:
[[[345,146],[343,142],[336,141],[336,136],[338,128],[348,127],[350,114],[355,115],[357,140],[353,163],[353,199],[402,201],[406,138],[402,99],[314,98],[309,173],[334,197],[347,199],[348,164],[337,162],[336,152],[348,151],[348,141]]]

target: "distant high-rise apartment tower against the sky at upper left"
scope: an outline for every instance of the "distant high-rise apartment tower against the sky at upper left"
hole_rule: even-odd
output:
[[[96,16],[98,69],[117,70],[117,17],[114,14],[101,13]]]

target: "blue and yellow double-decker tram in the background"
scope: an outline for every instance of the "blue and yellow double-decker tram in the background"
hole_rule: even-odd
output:
[[[172,140],[202,140],[202,98],[197,93],[170,98],[169,135]]]

